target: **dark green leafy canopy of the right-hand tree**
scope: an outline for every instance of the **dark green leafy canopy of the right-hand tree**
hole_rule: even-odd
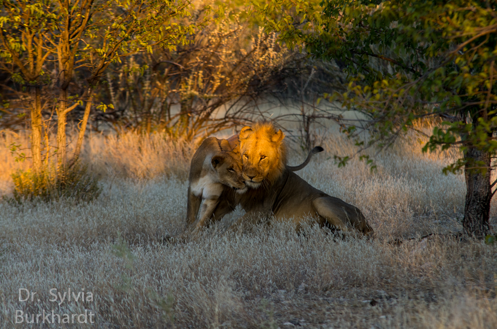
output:
[[[364,147],[387,147],[419,119],[442,118],[423,151],[497,153],[495,2],[272,0],[253,9],[289,47],[338,61],[350,82],[334,97],[367,115],[349,134],[372,132]],[[446,172],[465,165],[489,169],[466,159]]]

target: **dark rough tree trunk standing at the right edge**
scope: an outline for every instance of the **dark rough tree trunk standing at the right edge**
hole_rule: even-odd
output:
[[[464,154],[464,160],[468,160],[468,163],[464,167],[466,203],[464,205],[463,228],[467,234],[482,239],[490,232],[490,200],[492,199],[490,154],[470,147]],[[485,172],[471,169],[477,166],[475,164],[477,161],[485,164],[484,166],[487,167]]]

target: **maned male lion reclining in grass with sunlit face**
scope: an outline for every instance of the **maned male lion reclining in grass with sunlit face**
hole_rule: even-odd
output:
[[[358,208],[312,187],[287,168],[281,130],[276,132],[270,123],[256,123],[242,128],[239,136],[242,176],[249,189],[240,196],[246,214],[238,222],[254,215],[293,217],[298,230],[304,217],[311,216],[318,218],[321,226],[373,233]]]

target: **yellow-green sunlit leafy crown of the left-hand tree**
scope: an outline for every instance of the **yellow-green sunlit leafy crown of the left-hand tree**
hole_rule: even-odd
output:
[[[43,64],[60,56],[66,58],[62,63],[76,59],[68,69],[89,69],[89,82],[94,82],[109,64],[121,63],[121,57],[151,53],[155,47],[175,49],[212,20],[205,14],[179,24],[176,18],[190,16],[188,0],[0,0],[0,5],[0,68],[15,82],[29,85],[49,82]]]

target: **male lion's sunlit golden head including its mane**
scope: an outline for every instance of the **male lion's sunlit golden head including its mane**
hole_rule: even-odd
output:
[[[256,123],[242,128],[239,138],[245,183],[257,188],[264,180],[274,182],[286,165],[283,132],[276,131],[271,123]]]

